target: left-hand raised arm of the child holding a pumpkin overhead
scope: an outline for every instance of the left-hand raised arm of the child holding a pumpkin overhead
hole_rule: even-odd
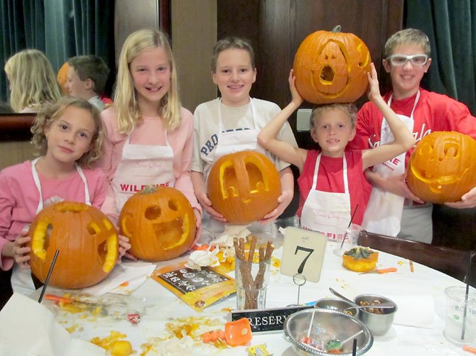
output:
[[[258,143],[269,150],[281,160],[291,163],[298,167],[299,172],[302,171],[303,165],[305,162],[305,156],[307,154],[306,150],[301,148],[294,148],[289,143],[278,140],[276,137],[279,133],[279,130],[284,123],[288,120],[289,116],[298,109],[299,106],[303,103],[303,98],[299,95],[296,86],[294,84],[296,78],[293,76],[293,70],[289,73],[289,87],[291,89],[291,94],[293,99],[291,103],[286,106],[280,113],[278,113],[274,118],[269,121],[269,123],[261,129],[258,135]]]

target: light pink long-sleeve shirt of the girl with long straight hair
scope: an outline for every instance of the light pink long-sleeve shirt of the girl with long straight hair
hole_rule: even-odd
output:
[[[178,128],[168,131],[167,139],[173,149],[173,175],[175,177],[175,189],[180,190],[190,201],[193,208],[202,211],[200,204],[193,192],[192,179],[190,177],[190,167],[193,152],[193,115],[187,109],[180,111],[182,121]],[[122,148],[126,142],[127,135],[118,133],[117,113],[114,107],[109,107],[101,112],[108,140],[105,143],[102,159],[99,160],[99,167],[112,182],[117,165],[121,161]],[[129,143],[133,145],[166,145],[165,128],[160,116],[142,116],[142,123],[134,128],[130,133]],[[107,189],[106,199],[102,206],[102,211],[116,221],[119,218],[119,211],[115,206],[114,193],[112,189]]]

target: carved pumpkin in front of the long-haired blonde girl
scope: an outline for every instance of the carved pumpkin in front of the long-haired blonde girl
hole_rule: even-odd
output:
[[[119,231],[129,238],[140,260],[171,260],[186,252],[195,238],[196,221],[190,202],[175,188],[146,187],[122,207]]]

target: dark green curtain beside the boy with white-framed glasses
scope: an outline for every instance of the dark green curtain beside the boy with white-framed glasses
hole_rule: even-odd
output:
[[[476,1],[407,0],[406,28],[430,38],[433,62],[422,86],[451,96],[476,114]]]

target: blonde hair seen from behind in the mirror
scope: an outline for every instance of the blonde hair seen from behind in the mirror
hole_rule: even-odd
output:
[[[6,61],[9,77],[11,108],[18,112],[29,107],[34,110],[58,101],[60,87],[48,58],[39,50],[22,50]]]

